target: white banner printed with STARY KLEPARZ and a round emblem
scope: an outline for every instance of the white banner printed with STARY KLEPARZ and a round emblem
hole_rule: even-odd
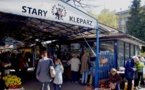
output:
[[[60,0],[0,0],[0,12],[98,28],[95,18]]]

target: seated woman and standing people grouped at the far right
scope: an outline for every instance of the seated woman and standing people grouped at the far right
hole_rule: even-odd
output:
[[[122,90],[139,90],[140,85],[144,85],[143,68],[144,58],[141,56],[133,56],[126,62],[124,77],[121,77],[115,68],[111,69],[109,78],[105,81],[106,87],[112,90],[120,90],[120,85],[123,83],[127,87]],[[134,81],[134,84],[133,84]],[[127,84],[125,84],[127,82]]]

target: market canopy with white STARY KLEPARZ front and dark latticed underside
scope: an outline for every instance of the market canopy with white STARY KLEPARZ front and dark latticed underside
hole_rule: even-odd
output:
[[[98,29],[95,18],[60,0],[0,0],[0,12],[1,31],[27,43],[74,38]]]

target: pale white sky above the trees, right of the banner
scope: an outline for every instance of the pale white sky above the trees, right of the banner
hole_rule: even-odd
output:
[[[104,8],[111,11],[116,10],[116,12],[127,10],[132,4],[132,0],[89,0],[89,2],[84,0],[83,3],[98,6],[91,10],[99,14]],[[145,5],[145,0],[141,0],[141,6],[143,5]]]

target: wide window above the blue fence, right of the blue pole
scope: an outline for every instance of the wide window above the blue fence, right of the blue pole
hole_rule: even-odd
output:
[[[100,42],[100,52],[114,53],[114,41]]]

